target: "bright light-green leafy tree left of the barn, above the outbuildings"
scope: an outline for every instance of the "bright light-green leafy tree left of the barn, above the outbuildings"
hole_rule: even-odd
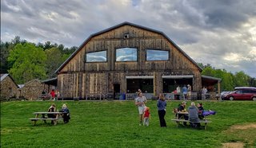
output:
[[[45,79],[46,54],[43,49],[32,43],[18,43],[10,51],[8,62],[13,64],[9,73],[18,84],[24,84],[33,79]]]

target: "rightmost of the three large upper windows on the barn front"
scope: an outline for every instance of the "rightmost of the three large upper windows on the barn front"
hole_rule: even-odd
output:
[[[169,60],[169,51],[146,49],[146,60]]]

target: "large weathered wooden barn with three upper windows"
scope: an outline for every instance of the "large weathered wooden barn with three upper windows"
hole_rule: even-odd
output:
[[[63,98],[91,94],[157,95],[190,84],[202,88],[202,68],[165,33],[130,22],[92,34],[57,70]],[[219,84],[219,80],[203,78]]]

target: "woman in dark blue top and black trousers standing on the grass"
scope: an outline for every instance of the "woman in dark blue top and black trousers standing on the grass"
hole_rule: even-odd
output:
[[[160,121],[160,127],[166,127],[166,99],[163,94],[159,95],[158,103],[158,116],[159,116],[159,121]]]

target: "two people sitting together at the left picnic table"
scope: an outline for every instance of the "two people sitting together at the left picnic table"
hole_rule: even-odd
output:
[[[58,111],[58,110],[57,110]],[[56,105],[53,103],[51,106],[48,108],[48,112],[56,112]],[[62,105],[62,108],[59,112],[62,112],[62,118],[64,123],[69,123],[70,121],[70,110],[66,106],[66,104]],[[56,115],[54,114],[48,114],[48,118],[56,118]],[[51,121],[52,124],[54,124],[54,121]]]

